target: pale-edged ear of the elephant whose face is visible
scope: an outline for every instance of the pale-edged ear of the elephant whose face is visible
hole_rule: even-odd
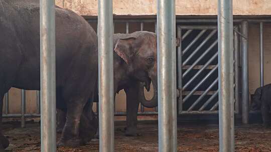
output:
[[[114,51],[120,56],[127,64],[129,64],[132,55],[132,43],[135,37],[127,37],[118,39]]]

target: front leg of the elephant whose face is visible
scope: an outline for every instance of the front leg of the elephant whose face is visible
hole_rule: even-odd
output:
[[[137,136],[138,108],[139,108],[139,84],[130,85],[126,92],[126,129],[125,135]]]

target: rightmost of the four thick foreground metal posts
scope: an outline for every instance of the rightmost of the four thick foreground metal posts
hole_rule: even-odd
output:
[[[219,151],[234,151],[232,0],[218,0]],[[214,108],[212,108],[214,109]]]

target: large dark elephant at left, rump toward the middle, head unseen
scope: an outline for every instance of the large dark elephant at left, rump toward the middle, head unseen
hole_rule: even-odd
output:
[[[40,89],[39,11],[39,0],[0,0],[0,115],[11,87]],[[78,146],[96,133],[97,119],[86,102],[95,89],[97,58],[93,28],[76,13],[56,7],[56,100],[57,108],[68,111],[59,146]],[[8,145],[1,131],[0,151]]]

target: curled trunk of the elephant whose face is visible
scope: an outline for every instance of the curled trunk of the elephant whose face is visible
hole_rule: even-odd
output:
[[[141,83],[140,87],[140,102],[142,105],[152,108],[156,107],[158,105],[158,90],[157,90],[157,80],[152,79],[153,86],[154,86],[154,96],[151,100],[146,99],[145,94],[144,94],[144,84]]]

